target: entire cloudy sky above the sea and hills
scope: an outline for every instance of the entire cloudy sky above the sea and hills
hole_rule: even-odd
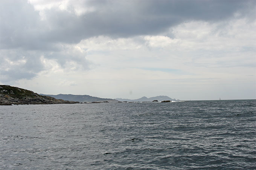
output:
[[[256,99],[255,0],[0,0],[0,84],[136,99]]]

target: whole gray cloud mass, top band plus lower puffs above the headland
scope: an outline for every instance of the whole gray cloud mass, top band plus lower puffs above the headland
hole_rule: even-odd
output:
[[[85,54],[60,44],[73,45],[101,35],[157,35],[184,21],[227,20],[235,12],[254,20],[255,5],[255,1],[87,1],[84,7],[92,7],[93,12],[78,16],[70,4],[68,10],[45,9],[41,18],[26,0],[1,0],[1,81],[33,78],[46,69],[40,56],[55,60],[62,68],[68,68],[71,62],[76,69],[89,68]],[[22,59],[26,62],[8,62]]]

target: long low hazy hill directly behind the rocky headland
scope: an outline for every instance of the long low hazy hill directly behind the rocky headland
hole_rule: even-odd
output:
[[[98,97],[93,97],[89,95],[71,95],[71,94],[58,94],[58,95],[45,95],[45,94],[40,94],[42,96],[50,96],[56,99],[62,99],[62,100],[68,100],[68,101],[77,101],[77,102],[118,102],[115,99],[108,99],[108,98],[98,98]]]

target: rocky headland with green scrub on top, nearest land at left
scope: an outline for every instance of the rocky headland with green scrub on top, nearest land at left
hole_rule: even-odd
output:
[[[0,85],[0,105],[12,104],[74,104],[79,102],[64,101],[50,96],[41,96],[30,90]]]

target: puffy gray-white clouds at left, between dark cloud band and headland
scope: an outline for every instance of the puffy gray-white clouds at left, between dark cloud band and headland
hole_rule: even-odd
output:
[[[60,51],[1,50],[0,75],[2,82],[31,79],[40,72],[85,71],[92,64],[86,51],[75,45],[62,45]]]

